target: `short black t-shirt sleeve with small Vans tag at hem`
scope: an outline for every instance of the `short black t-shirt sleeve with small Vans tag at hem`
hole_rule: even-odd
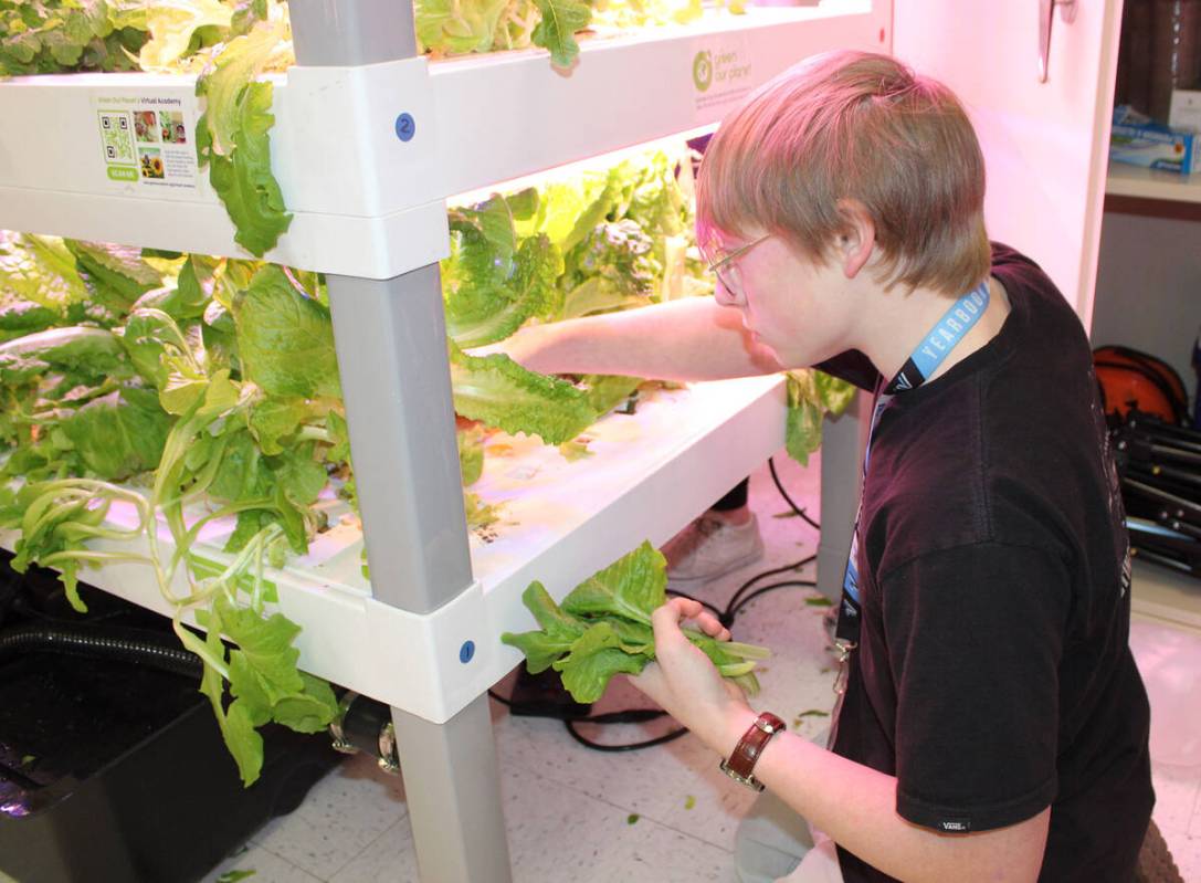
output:
[[[1056,797],[1064,563],[981,543],[882,580],[896,685],[897,812],[943,833],[1003,828]]]

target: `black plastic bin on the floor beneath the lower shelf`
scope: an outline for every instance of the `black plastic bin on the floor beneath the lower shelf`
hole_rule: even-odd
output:
[[[0,636],[82,622],[174,643],[161,617],[119,598],[86,593],[80,617],[48,574],[14,583],[0,569]],[[267,727],[262,775],[243,788],[197,686],[125,660],[0,657],[0,871],[19,883],[195,881],[341,759],[324,734]]]

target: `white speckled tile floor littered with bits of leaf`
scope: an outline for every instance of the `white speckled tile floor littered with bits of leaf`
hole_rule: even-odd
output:
[[[778,465],[794,499],[815,514],[815,461],[808,470]],[[706,599],[723,607],[749,575],[815,550],[815,531],[800,519],[776,518],[787,506],[766,469],[753,477],[752,506],[766,559],[705,590]],[[809,566],[805,577],[812,575]],[[795,717],[799,732],[812,736],[827,721],[801,715],[829,710],[832,672],[820,627],[823,608],[807,605],[809,597],[814,592],[802,589],[766,595],[746,609],[734,632],[740,640],[776,651],[754,704]],[[1187,640],[1201,643],[1201,637]],[[507,692],[508,685],[498,690]],[[627,687],[610,691],[603,708],[641,702]],[[1193,694],[1191,708],[1201,710],[1201,693]],[[514,718],[495,703],[492,717],[514,881],[735,882],[734,831],[752,795],[721,774],[717,758],[694,739],[607,754],[580,747],[554,721]],[[1194,728],[1199,718],[1191,717]],[[596,738],[634,741],[661,730],[652,724],[610,727]],[[1185,881],[1201,883],[1201,764],[1157,763],[1155,788],[1155,818],[1172,854]],[[205,883],[216,883],[231,870],[256,871],[251,883],[417,881],[402,783],[366,758],[349,758],[295,812],[258,831],[245,852],[214,869]]]

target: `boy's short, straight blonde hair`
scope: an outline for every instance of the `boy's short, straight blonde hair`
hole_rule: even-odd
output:
[[[759,228],[819,262],[876,225],[878,281],[960,296],[991,266],[984,155],[950,89],[888,55],[833,52],[760,86],[713,136],[697,181],[701,245]]]

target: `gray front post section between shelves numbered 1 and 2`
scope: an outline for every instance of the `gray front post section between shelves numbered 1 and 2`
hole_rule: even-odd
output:
[[[372,591],[429,613],[472,581],[438,268],[328,281]]]

